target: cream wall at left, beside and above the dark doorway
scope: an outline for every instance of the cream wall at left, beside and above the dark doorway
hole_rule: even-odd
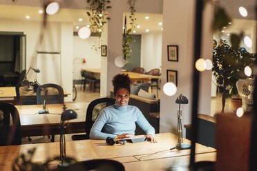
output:
[[[41,45],[37,44],[39,32],[41,30],[41,22],[37,21],[0,21],[1,32],[23,32],[26,34],[26,68],[32,66],[37,68],[37,52],[61,52],[61,86],[64,92],[72,93],[72,57],[73,57],[73,23],[48,22],[48,27],[44,32],[44,39]],[[37,48],[36,48],[37,47]],[[47,67],[47,66],[46,66]],[[40,73],[39,73],[40,74]],[[47,75],[44,77],[51,77]],[[34,81],[37,75],[34,72],[28,74],[28,79]],[[72,96],[68,96],[66,101],[71,101]]]

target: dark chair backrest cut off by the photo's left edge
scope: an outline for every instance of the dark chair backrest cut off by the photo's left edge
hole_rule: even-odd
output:
[[[0,145],[19,144],[21,144],[19,112],[12,104],[0,103]]]

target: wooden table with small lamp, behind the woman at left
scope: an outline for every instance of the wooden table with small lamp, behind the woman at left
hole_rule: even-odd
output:
[[[77,112],[78,118],[66,122],[67,133],[85,132],[86,109],[89,103],[66,103],[67,109]],[[61,104],[48,104],[49,114],[38,114],[42,105],[16,105],[21,121],[22,137],[59,134]]]

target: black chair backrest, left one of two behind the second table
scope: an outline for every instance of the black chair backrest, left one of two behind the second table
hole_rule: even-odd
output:
[[[28,90],[28,86],[23,86],[20,83],[17,83],[15,86],[17,105],[36,105],[37,99],[33,90]]]

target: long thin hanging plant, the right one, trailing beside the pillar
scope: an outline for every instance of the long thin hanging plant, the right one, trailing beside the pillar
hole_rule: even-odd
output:
[[[125,63],[128,63],[126,61],[126,58],[130,58],[130,53],[132,52],[130,43],[133,41],[133,37],[131,36],[131,32],[135,29],[135,21],[137,20],[135,18],[135,1],[136,0],[128,0],[129,8],[131,10],[131,13],[129,15],[130,19],[130,28],[126,30],[126,16],[125,16],[125,22],[124,22],[124,34],[123,34],[123,42],[122,42],[122,52],[124,55]]]

